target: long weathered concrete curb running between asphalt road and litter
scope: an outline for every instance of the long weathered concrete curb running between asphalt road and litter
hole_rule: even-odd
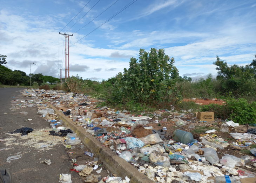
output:
[[[119,158],[113,151],[108,147],[102,146],[101,142],[95,139],[89,133],[62,114],[58,109],[56,109],[52,104],[48,103],[50,108],[54,109],[55,114],[63,121],[63,123],[70,128],[76,135],[80,138],[83,144],[92,150],[94,155],[99,158],[106,167],[111,170],[113,174],[117,174],[124,178],[127,176],[130,178],[131,183],[150,183],[151,181],[146,175],[140,173],[136,168],[134,168],[130,163],[126,162],[124,159]]]

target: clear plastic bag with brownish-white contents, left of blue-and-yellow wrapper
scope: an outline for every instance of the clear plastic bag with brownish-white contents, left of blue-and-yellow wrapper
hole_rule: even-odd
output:
[[[149,155],[149,161],[156,166],[170,167],[170,158],[167,153],[161,153],[158,151],[152,151]]]

